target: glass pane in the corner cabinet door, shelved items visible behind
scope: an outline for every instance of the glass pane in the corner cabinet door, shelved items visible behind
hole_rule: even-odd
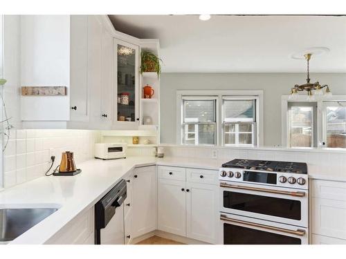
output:
[[[117,45],[118,55],[118,121],[135,121],[136,50]]]

